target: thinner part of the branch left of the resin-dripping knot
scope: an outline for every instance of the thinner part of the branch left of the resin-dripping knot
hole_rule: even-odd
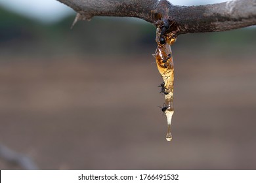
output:
[[[93,16],[137,17],[152,22],[151,10],[158,0],[58,0],[73,8],[81,19],[91,20]]]

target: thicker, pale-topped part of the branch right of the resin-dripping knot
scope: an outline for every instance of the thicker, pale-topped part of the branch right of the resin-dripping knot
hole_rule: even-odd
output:
[[[179,24],[182,34],[227,31],[256,25],[256,0],[173,7],[169,15]]]

